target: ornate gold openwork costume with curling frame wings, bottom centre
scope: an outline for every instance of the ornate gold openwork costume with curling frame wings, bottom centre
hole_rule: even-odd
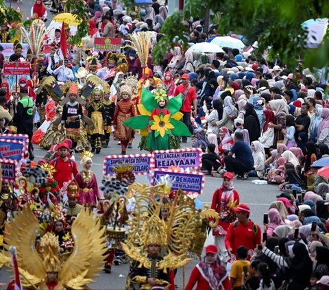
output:
[[[160,210],[164,197],[170,193],[171,182],[163,181],[164,183],[156,186],[130,186],[130,190],[135,192],[136,206],[127,240],[121,245],[125,253],[137,262],[139,269],[154,267],[149,259],[147,246],[160,245],[163,258],[156,262],[155,267],[166,274],[167,269],[186,265],[191,261],[191,254],[201,254],[206,241],[208,220],[212,218],[209,225],[215,227],[219,217],[215,210],[195,209],[194,199],[179,189],[169,208],[169,220],[165,222],[160,218]],[[130,275],[127,285],[137,282],[143,285],[141,289],[151,289],[146,285],[146,280],[145,277]],[[167,287],[168,285],[165,289]]]

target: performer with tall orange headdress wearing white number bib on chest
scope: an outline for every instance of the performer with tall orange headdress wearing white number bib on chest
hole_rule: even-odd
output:
[[[66,130],[66,136],[77,146],[80,136],[80,119],[82,118],[82,105],[77,102],[77,84],[72,83],[69,89],[70,101],[63,106],[61,131]]]

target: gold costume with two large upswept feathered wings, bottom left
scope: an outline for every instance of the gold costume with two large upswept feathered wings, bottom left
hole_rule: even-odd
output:
[[[72,226],[74,249],[71,255],[58,254],[58,237],[48,232],[36,246],[38,221],[32,210],[23,208],[5,224],[3,237],[5,251],[0,252],[0,261],[10,261],[10,247],[17,249],[17,262],[23,287],[45,287],[47,272],[58,272],[55,289],[88,289],[87,283],[93,282],[103,265],[106,252],[104,230],[93,213],[82,208]]]

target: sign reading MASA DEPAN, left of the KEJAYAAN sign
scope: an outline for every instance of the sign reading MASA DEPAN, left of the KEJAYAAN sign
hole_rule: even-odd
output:
[[[114,168],[122,164],[134,165],[134,174],[147,174],[151,168],[151,154],[135,154],[135,155],[109,155],[104,158],[103,174],[115,175]]]

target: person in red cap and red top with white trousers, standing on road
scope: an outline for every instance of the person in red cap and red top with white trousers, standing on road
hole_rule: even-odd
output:
[[[226,261],[225,236],[230,222],[235,220],[235,213],[232,208],[240,203],[239,193],[234,189],[232,180],[233,174],[231,172],[224,173],[223,184],[212,195],[211,208],[219,214],[219,223],[212,230],[212,234],[215,236],[215,245],[221,255],[221,261]]]

